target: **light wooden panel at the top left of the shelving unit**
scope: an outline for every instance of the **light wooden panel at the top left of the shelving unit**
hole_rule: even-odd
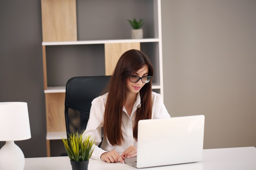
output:
[[[76,0],[41,0],[43,41],[76,41]]]

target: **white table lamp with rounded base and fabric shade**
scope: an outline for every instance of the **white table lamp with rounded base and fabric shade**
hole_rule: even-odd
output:
[[[14,144],[31,138],[29,114],[25,102],[0,102],[0,141],[6,141],[0,149],[0,170],[23,170],[25,157]]]

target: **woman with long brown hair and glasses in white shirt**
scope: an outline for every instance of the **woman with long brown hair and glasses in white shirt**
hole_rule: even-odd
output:
[[[108,163],[137,156],[138,121],[169,118],[161,95],[152,92],[153,66],[139,50],[121,55],[105,95],[92,101],[90,119],[83,135],[92,135],[96,145],[92,158]]]

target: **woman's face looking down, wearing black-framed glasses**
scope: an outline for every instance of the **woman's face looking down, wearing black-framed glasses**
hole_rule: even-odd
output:
[[[148,66],[144,66],[143,68],[139,69],[138,71],[136,71],[136,73],[134,73],[133,75],[136,75],[138,77],[144,77],[148,75]],[[127,84],[126,84],[126,88],[127,91],[130,93],[139,93],[140,89],[145,85],[145,83],[141,82],[141,79],[137,82],[137,83],[132,83],[128,79],[126,80]]]

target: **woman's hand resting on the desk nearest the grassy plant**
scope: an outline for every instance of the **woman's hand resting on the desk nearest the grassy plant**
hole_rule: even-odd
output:
[[[114,163],[120,161],[121,163],[124,163],[125,157],[117,153],[116,150],[111,150],[110,152],[105,152],[101,154],[101,160],[108,162],[108,163]]]

